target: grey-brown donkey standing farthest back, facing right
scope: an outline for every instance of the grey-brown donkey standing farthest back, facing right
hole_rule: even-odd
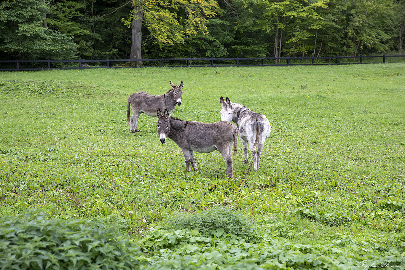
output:
[[[165,108],[169,112],[169,115],[173,113],[177,105],[181,105],[181,98],[183,97],[183,82],[180,86],[174,85],[172,81],[169,81],[172,89],[167,91],[164,95],[152,96],[147,92],[141,91],[131,94],[128,97],[127,104],[127,122],[131,123],[131,132],[139,132],[136,126],[136,121],[138,121],[139,115],[145,113],[149,116],[156,117],[156,110],[158,108]],[[132,117],[129,119],[129,106],[132,106]]]

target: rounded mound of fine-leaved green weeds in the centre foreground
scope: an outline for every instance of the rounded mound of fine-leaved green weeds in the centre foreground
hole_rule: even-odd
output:
[[[198,230],[204,236],[234,234],[251,240],[255,235],[253,223],[247,217],[223,207],[214,207],[195,214],[181,213],[168,221],[168,226],[179,230]]]

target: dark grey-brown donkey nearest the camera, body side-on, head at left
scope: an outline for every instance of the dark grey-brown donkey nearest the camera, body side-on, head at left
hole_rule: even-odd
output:
[[[184,121],[169,116],[169,112],[164,109],[162,114],[160,109],[158,115],[158,135],[160,142],[164,143],[166,137],[173,140],[183,151],[185,166],[190,172],[190,163],[193,170],[197,170],[194,151],[199,153],[210,153],[214,150],[220,151],[226,162],[226,174],[232,177],[232,142],[234,145],[234,155],[237,153],[238,128],[236,125],[222,121],[215,123],[201,123],[194,121]]]

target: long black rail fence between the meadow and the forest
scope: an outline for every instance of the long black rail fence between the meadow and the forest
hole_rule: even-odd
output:
[[[377,59],[370,62],[369,59]],[[158,58],[158,59],[104,59],[104,60],[9,60],[0,61],[0,71],[22,70],[53,70],[53,69],[88,69],[88,68],[142,68],[161,67],[222,67],[222,66],[298,66],[298,65],[344,65],[344,64],[376,64],[386,63],[387,59],[394,62],[405,62],[405,55],[367,55],[367,56],[327,56],[327,57],[255,57],[255,58]],[[143,65],[139,62],[143,62]],[[116,63],[125,64],[116,64]],[[132,66],[128,63],[133,62]],[[192,64],[194,62],[194,64]],[[214,63],[215,62],[215,63]],[[391,61],[392,62],[392,61]],[[3,66],[9,67],[3,67]],[[34,63],[34,64],[30,64]],[[47,66],[45,66],[47,63]],[[66,63],[66,64],[61,64]],[[77,63],[77,66],[76,66]],[[87,63],[94,63],[90,66]],[[102,65],[104,63],[104,65]],[[156,63],[159,63],[156,65]],[[165,64],[169,63],[169,64]],[[172,63],[172,64],[170,64]],[[232,64],[233,63],[233,64]],[[58,64],[60,65],[58,67]],[[113,64],[113,65],[111,65]],[[114,65],[115,64],[115,65]],[[38,66],[42,65],[42,66]],[[70,66],[69,66],[70,65]],[[11,68],[10,66],[14,66]],[[27,67],[31,66],[31,67]],[[68,67],[66,67],[68,66]]]

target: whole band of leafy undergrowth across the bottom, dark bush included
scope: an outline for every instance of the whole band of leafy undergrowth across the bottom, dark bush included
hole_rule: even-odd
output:
[[[38,215],[36,215],[38,214]],[[191,216],[191,215],[190,215]],[[201,216],[206,218],[201,222]],[[112,227],[79,220],[49,219],[41,213],[2,217],[2,269],[358,269],[402,268],[405,234],[390,238],[334,234],[328,244],[289,242],[273,230],[254,240],[227,233],[239,218],[213,208],[194,215],[200,230],[156,226],[140,241],[123,240]],[[183,223],[181,216],[175,218]],[[190,221],[190,220],[189,220]],[[190,222],[185,222],[190,225]],[[212,227],[211,224],[217,226]],[[245,222],[243,227],[247,227]],[[207,226],[207,227],[206,227]],[[254,231],[253,224],[250,230]],[[214,229],[213,229],[214,228]],[[201,233],[200,231],[205,231]],[[252,235],[249,236],[252,238]],[[141,250],[143,252],[141,252]]]

